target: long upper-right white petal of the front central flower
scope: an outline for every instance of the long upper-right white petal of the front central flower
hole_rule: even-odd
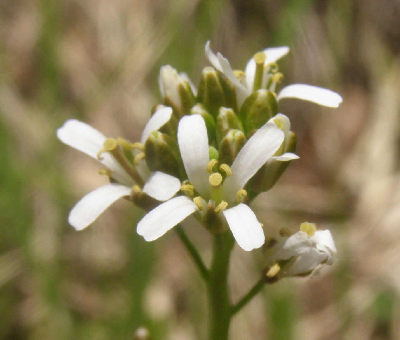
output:
[[[266,123],[252,135],[232,164],[232,176],[224,181],[224,199],[228,203],[235,199],[236,193],[278,150],[283,140],[284,133],[275,123]]]

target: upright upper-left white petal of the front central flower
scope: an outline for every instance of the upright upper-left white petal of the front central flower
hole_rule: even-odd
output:
[[[178,144],[189,181],[203,198],[210,199],[208,136],[206,123],[201,115],[184,116],[180,119]]]

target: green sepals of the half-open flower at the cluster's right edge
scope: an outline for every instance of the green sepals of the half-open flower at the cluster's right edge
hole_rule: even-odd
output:
[[[290,131],[288,144],[285,146],[283,153],[296,151],[297,138],[296,135]],[[254,199],[259,193],[270,190],[282,176],[286,168],[292,161],[274,161],[268,160],[248,181],[247,192],[250,200]]]

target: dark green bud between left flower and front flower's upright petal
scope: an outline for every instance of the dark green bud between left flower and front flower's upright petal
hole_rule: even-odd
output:
[[[184,167],[175,139],[154,131],[149,135],[144,146],[146,163],[150,171],[162,171],[179,179],[184,178]]]

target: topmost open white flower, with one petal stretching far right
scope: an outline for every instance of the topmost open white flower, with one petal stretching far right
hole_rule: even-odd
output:
[[[225,76],[232,82],[236,88],[236,96],[238,100],[238,107],[242,105],[246,97],[248,97],[254,91],[254,80],[256,78],[256,62],[254,58],[251,58],[245,68],[244,77],[239,80],[228,59],[224,58],[220,52],[215,55],[210,49],[210,41],[206,43],[205,47],[206,56],[210,60],[211,64],[220,72],[224,73]],[[274,80],[274,74],[270,72],[270,68],[274,67],[275,62],[288,54],[289,48],[287,46],[266,48],[262,51],[264,53],[264,65],[262,70],[262,81],[260,83],[261,89],[269,89],[275,91],[276,82]],[[342,97],[337,93],[323,89],[321,87],[315,87],[306,84],[292,84],[284,87],[276,97],[277,101],[283,98],[297,98],[305,101],[311,101],[319,105],[327,107],[338,107],[342,102]]]

